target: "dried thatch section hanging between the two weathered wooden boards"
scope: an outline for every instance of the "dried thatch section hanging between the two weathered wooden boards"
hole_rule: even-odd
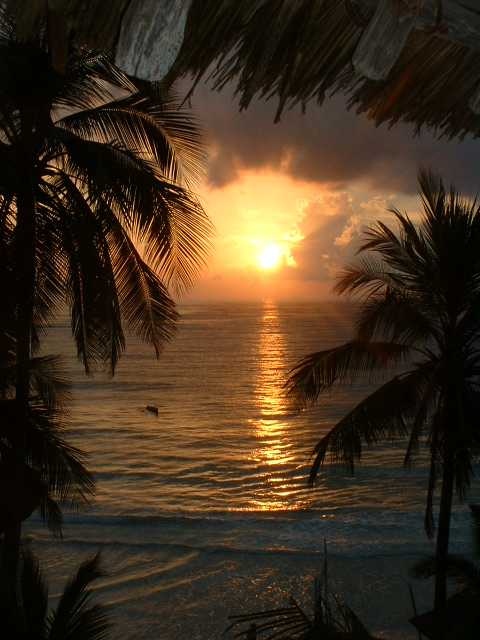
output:
[[[236,78],[241,109],[256,94],[278,94],[278,120],[284,108],[305,104],[312,96],[321,104],[327,92],[353,79],[351,50],[360,33],[344,7],[332,0],[321,5],[305,0],[195,2],[185,31],[188,46],[169,75],[189,71],[198,82],[215,60],[210,74],[215,88]]]

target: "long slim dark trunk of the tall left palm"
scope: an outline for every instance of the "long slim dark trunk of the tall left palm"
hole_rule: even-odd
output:
[[[35,201],[29,184],[17,200],[15,267],[17,274],[17,376],[15,425],[12,429],[9,520],[5,530],[3,567],[13,587],[16,584],[22,528],[26,439],[30,401],[31,333],[35,293]]]

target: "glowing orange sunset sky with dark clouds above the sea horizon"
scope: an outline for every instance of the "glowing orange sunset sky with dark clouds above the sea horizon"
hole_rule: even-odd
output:
[[[418,218],[418,168],[465,196],[480,192],[480,140],[377,128],[342,95],[284,111],[276,124],[275,99],[240,113],[228,88],[199,85],[191,105],[208,143],[198,195],[216,237],[187,300],[326,298],[365,226],[396,230],[392,207]]]

